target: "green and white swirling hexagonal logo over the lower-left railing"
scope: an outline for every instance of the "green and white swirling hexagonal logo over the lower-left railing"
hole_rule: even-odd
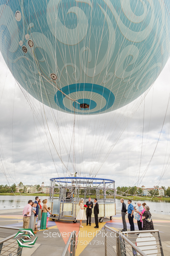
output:
[[[28,232],[28,233],[31,234],[31,236],[34,236],[34,237],[35,237],[35,234],[33,233],[33,230],[32,230],[32,229],[19,229],[19,230],[20,230],[20,231],[18,231],[18,233],[16,234],[16,236],[15,236],[14,238],[16,238],[17,236],[22,235],[23,237],[28,237],[29,239],[31,239],[31,237],[30,237],[29,234],[28,234],[28,235],[24,235],[25,232]],[[36,240],[37,240],[37,237],[36,237],[32,242],[29,242],[29,241],[24,240],[23,238],[21,238],[21,241],[22,241],[23,243],[28,243],[28,242],[29,242],[29,244],[24,245],[24,244],[23,244],[20,240],[18,240],[18,239],[17,239],[17,243],[18,243],[19,247],[32,248],[31,245],[34,245],[35,242],[36,242]]]

